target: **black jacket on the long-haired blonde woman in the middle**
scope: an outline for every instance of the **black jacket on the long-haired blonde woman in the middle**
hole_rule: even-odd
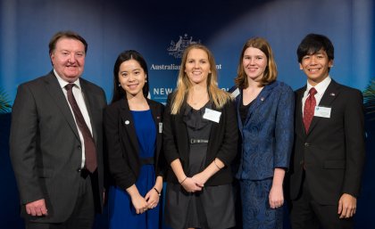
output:
[[[189,164],[189,139],[187,126],[183,121],[186,102],[180,108],[179,114],[171,115],[172,96],[172,94],[168,96],[164,112],[162,131],[164,153],[168,165],[171,165],[173,160],[180,159],[182,168],[187,171]],[[221,109],[216,109],[214,104],[212,104],[212,109],[220,111],[221,118],[219,123],[212,122],[205,167],[211,164],[215,158],[221,159],[226,167],[213,175],[206,185],[229,184],[233,179],[230,164],[237,154],[238,128],[236,110],[233,102],[227,102]],[[179,184],[171,168],[167,173],[167,181]]]

